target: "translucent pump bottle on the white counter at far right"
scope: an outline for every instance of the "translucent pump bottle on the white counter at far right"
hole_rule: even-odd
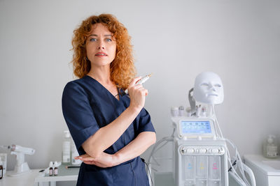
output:
[[[265,141],[263,153],[265,157],[276,158],[278,157],[278,148],[275,141],[274,135],[268,135],[267,140]]]

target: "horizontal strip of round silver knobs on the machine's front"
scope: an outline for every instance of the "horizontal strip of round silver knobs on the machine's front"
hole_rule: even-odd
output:
[[[181,155],[223,155],[225,148],[223,146],[182,146]]]

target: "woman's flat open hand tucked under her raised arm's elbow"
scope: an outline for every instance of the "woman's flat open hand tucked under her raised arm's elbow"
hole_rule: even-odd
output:
[[[97,158],[91,157],[90,155],[84,154],[75,157],[76,160],[82,160],[85,164],[94,164],[99,167],[111,167],[118,165],[118,158],[115,155],[110,155],[107,153],[102,153]]]

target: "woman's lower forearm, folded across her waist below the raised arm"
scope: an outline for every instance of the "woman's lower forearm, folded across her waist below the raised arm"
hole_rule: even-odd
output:
[[[130,144],[120,149],[115,155],[118,164],[132,160],[134,157],[141,155],[151,145],[155,144],[155,132],[141,132]]]

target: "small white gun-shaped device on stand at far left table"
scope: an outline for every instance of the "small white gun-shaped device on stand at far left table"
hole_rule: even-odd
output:
[[[34,155],[35,150],[33,148],[22,147],[18,145],[8,146],[10,148],[11,155],[17,156],[17,163],[15,164],[15,169],[13,172],[9,173],[8,176],[20,176],[22,173],[27,173],[30,171],[27,162],[25,162],[26,155]]]

